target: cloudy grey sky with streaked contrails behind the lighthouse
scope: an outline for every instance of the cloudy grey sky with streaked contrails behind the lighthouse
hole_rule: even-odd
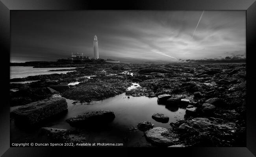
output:
[[[245,11],[11,11],[10,61],[93,57],[94,35],[121,62],[245,57],[245,24]]]

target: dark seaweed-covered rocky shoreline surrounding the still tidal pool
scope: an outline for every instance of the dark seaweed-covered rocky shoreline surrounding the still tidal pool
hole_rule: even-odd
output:
[[[23,108],[31,104],[36,106],[46,100],[53,100],[51,97],[56,93],[80,103],[104,100],[124,92],[126,96],[158,97],[158,104],[165,105],[166,108],[184,108],[186,115],[177,122],[169,122],[169,128],[153,124],[153,119],[169,121],[169,117],[161,113],[156,112],[152,119],[141,119],[137,127],[144,132],[146,140],[152,146],[246,145],[245,64],[86,64],[75,70],[67,74],[10,79],[39,80],[26,84],[10,84],[10,89],[16,90],[10,91],[10,105],[24,105]],[[73,82],[78,83],[68,85]],[[127,90],[132,83],[139,83],[140,87]],[[23,112],[21,109],[13,112],[16,119],[19,119],[17,113]],[[52,109],[49,110],[53,111],[52,115],[59,113],[54,107]],[[37,116],[23,118],[22,121],[32,123],[28,119],[48,117],[45,114],[38,116],[41,114],[40,110],[33,109],[30,112],[29,115]],[[50,127],[42,129],[43,133],[51,135],[50,139],[65,139],[65,142],[74,139],[86,141],[86,135],[83,135],[85,132],[78,128],[59,129],[61,131]]]

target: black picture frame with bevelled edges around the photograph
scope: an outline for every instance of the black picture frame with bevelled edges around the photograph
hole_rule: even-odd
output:
[[[2,75],[2,94],[0,105],[0,155],[7,156],[52,156],[55,153],[58,156],[67,155],[67,153],[78,152],[74,148],[14,148],[10,144],[9,128],[9,60],[10,57],[10,11],[11,10],[82,10],[82,9],[104,9],[104,10],[246,10],[246,55],[247,55],[247,147],[242,148],[170,148],[170,150],[154,151],[150,148],[144,152],[155,153],[177,153],[179,156],[193,155],[197,157],[253,157],[256,155],[256,105],[255,89],[256,74],[254,70],[255,63],[255,43],[256,43],[256,2],[255,0],[129,0],[129,1],[98,1],[98,0],[1,0],[0,2],[0,39],[1,39],[1,63]],[[70,150],[72,149],[72,150]],[[90,148],[91,149],[91,148]],[[102,148],[101,148],[102,149]],[[138,150],[139,148],[134,148]],[[109,151],[124,151],[124,149],[115,149]],[[103,155],[107,153],[106,149],[98,151],[93,148],[95,154]],[[88,149],[83,148],[84,154]]]

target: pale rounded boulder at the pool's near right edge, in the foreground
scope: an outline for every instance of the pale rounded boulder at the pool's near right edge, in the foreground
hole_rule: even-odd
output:
[[[163,127],[154,127],[145,133],[148,142],[156,146],[170,146],[178,142],[178,135],[175,133],[168,133],[168,136],[163,135],[168,132],[168,129]]]

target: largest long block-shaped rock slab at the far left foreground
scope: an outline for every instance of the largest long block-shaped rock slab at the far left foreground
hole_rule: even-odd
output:
[[[29,103],[11,112],[16,122],[33,125],[68,109],[65,98],[50,98]]]

